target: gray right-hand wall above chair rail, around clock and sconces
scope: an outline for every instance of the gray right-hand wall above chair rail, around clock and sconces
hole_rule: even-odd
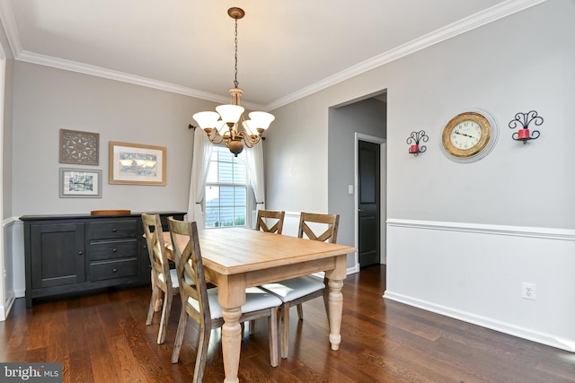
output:
[[[569,0],[536,5],[274,110],[269,207],[327,212],[328,110],[387,89],[389,217],[575,228],[573,7]],[[495,116],[500,140],[487,158],[460,164],[440,150],[441,132],[469,108]],[[544,117],[541,137],[512,141],[509,121],[531,109]],[[429,143],[414,159],[405,140],[416,129]]]

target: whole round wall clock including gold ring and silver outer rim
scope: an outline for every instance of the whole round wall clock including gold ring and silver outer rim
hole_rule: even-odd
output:
[[[495,118],[485,110],[469,109],[447,121],[441,142],[449,159],[473,162],[491,152],[498,136]]]

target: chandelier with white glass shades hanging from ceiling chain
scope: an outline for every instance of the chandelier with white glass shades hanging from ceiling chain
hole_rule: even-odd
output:
[[[243,144],[251,148],[260,142],[261,134],[275,117],[270,113],[253,111],[249,114],[250,119],[243,118],[244,109],[241,102],[243,91],[238,88],[237,82],[237,21],[242,19],[245,13],[243,9],[233,7],[227,10],[227,14],[235,20],[234,88],[230,89],[230,103],[218,105],[215,112],[196,113],[192,118],[204,129],[209,141],[214,144],[225,142],[226,147],[237,157],[243,151]]]

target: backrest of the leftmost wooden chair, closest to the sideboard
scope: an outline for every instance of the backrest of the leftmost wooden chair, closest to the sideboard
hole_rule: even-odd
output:
[[[142,213],[142,223],[146,233],[146,246],[150,257],[150,265],[152,265],[156,275],[164,274],[164,279],[161,279],[160,283],[164,281],[164,283],[171,284],[170,265],[164,248],[164,232],[162,231],[160,214]]]

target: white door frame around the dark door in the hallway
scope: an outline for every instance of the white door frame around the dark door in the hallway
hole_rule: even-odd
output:
[[[359,162],[358,162],[358,154],[359,154],[359,141],[366,141],[368,143],[374,143],[374,144],[379,144],[379,161],[380,161],[380,166],[379,166],[379,192],[380,192],[380,198],[379,198],[379,207],[380,207],[380,239],[381,239],[381,244],[380,244],[380,256],[379,256],[379,263],[380,264],[385,264],[386,262],[386,253],[385,253],[385,229],[386,229],[386,225],[385,225],[385,221],[386,221],[386,216],[387,216],[387,198],[386,198],[386,165],[387,165],[387,156],[386,156],[386,140],[385,138],[381,138],[381,137],[376,137],[374,135],[364,135],[362,133],[355,133],[355,152],[354,152],[354,161],[355,161],[355,165],[354,165],[354,187],[355,187],[355,193],[354,193],[354,201],[353,201],[353,207],[354,207],[354,223],[355,223],[355,229],[354,229],[354,236],[355,236],[355,248],[359,248],[359,235],[358,235],[358,231],[359,231],[359,214],[358,214],[358,209],[359,209],[359,204],[358,204],[358,185],[359,185],[359,181],[358,181],[358,177],[359,177]],[[359,271],[359,252],[356,251],[355,252],[355,264],[356,264],[356,271]]]

